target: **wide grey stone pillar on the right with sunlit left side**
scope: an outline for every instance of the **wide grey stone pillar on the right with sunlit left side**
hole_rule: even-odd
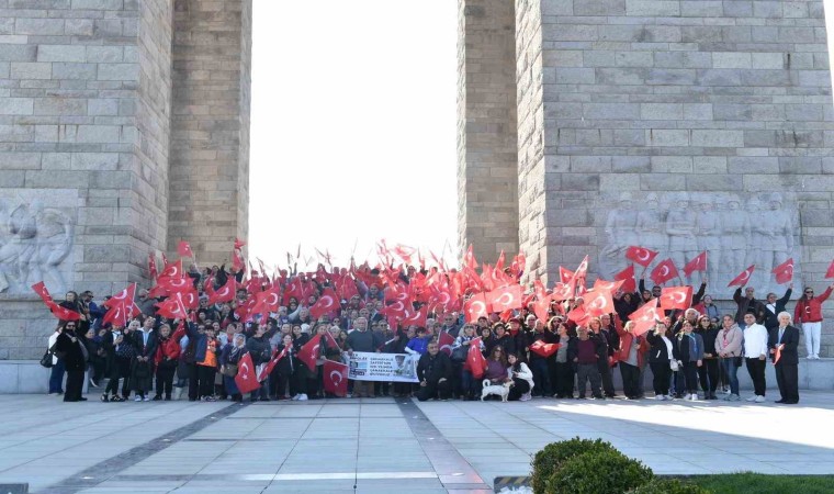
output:
[[[834,258],[834,112],[821,1],[517,0],[521,247],[610,277],[640,244],[708,249],[728,299]],[[538,256],[537,256],[538,254]],[[694,282],[700,281],[696,276]],[[831,355],[832,332],[824,345]]]

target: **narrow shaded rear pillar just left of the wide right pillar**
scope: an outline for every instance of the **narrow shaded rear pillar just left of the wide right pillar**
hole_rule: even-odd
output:
[[[458,238],[495,262],[518,249],[511,1],[459,0]]]

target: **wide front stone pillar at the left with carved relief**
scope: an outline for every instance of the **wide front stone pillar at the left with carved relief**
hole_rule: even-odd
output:
[[[171,29],[169,0],[3,2],[0,359],[43,355],[32,283],[110,294],[165,248]]]

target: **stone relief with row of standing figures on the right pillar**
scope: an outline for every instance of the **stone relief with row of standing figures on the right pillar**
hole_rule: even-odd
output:
[[[666,258],[675,261],[683,277],[684,266],[706,250],[707,272],[696,272],[684,282],[699,284],[706,274],[710,292],[728,297],[732,292],[726,288],[730,280],[756,265],[750,284],[758,292],[781,295],[787,287],[776,284],[771,270],[790,257],[794,261],[793,282],[801,284],[800,249],[794,242],[799,222],[793,204],[796,201],[780,193],[741,198],[720,192],[650,192],[643,201],[623,194],[600,232],[600,276],[611,279],[626,268],[629,261],[624,252],[631,245],[660,252],[646,268],[646,278]],[[642,267],[635,269],[640,276]]]

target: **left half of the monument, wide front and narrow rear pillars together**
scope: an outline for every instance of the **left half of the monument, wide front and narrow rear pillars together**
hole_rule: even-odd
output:
[[[251,15],[251,0],[3,2],[0,359],[43,355],[41,279],[101,301],[181,239],[204,266],[247,237]]]

